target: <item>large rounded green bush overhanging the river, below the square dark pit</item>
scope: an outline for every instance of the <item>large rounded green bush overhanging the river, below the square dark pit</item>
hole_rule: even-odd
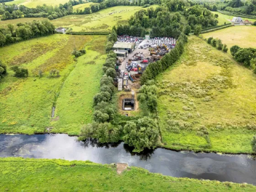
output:
[[[159,137],[156,123],[149,117],[127,122],[123,128],[123,133],[124,142],[133,146],[134,152],[143,151],[144,148],[154,148]]]

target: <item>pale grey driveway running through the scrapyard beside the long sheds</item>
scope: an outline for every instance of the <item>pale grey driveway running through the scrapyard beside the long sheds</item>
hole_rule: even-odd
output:
[[[149,48],[146,48],[146,49],[141,49],[139,48],[139,46],[143,46],[145,43],[147,43],[148,40],[144,39],[135,49],[132,53],[129,53],[128,56],[123,60],[122,64],[119,66],[119,69],[122,71],[124,71],[125,73],[131,73],[131,74],[137,74],[138,71],[130,71],[128,72],[128,70],[125,69],[125,64],[126,62],[129,60],[129,59],[132,59],[133,55],[137,52],[142,52],[144,54],[144,56],[147,58],[149,57],[150,53],[149,53]],[[137,61],[138,64],[140,64],[140,61]],[[145,64],[141,64],[142,67],[145,66]]]

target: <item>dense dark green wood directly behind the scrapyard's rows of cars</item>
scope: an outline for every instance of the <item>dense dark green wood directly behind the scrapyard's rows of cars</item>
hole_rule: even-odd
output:
[[[169,3],[170,4],[170,3]],[[183,10],[184,7],[175,6],[176,10]],[[150,37],[174,37],[178,38],[181,34],[181,14],[176,12],[171,14],[170,8],[163,4],[162,6],[147,8],[147,10],[139,10],[131,16],[128,23],[129,25],[119,25],[117,27],[118,35],[130,35],[137,37],[144,37],[149,34]]]

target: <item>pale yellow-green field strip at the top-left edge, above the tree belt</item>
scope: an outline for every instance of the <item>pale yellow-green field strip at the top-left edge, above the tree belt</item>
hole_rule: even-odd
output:
[[[59,5],[60,3],[64,4],[67,3],[69,0],[14,0],[7,2],[6,4],[18,4],[18,5],[25,5],[27,7],[35,8],[37,5]]]

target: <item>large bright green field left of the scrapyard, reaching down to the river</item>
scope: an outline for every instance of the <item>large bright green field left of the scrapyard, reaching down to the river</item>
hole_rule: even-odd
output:
[[[105,36],[55,34],[0,48],[9,73],[0,83],[0,133],[43,133],[49,127],[52,132],[78,134],[79,123],[91,120],[92,98],[99,90],[104,63],[104,55],[98,55],[104,54],[105,41]],[[87,49],[77,62],[71,55],[74,43]],[[95,63],[88,64],[92,59]],[[29,77],[13,77],[13,65],[29,69]],[[51,69],[60,70],[60,77],[48,78]],[[37,76],[39,70],[42,78]],[[57,108],[51,119],[53,103]],[[84,108],[74,111],[74,106]]]

